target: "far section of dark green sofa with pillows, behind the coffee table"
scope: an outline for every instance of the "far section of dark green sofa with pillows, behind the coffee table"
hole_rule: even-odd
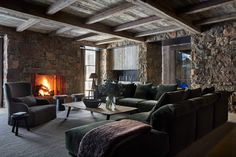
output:
[[[158,102],[163,93],[177,90],[176,84],[161,84],[154,86],[148,84],[119,84],[119,95],[117,95],[116,104],[138,108],[138,112],[150,111]],[[100,97],[104,100],[106,95],[100,91]]]

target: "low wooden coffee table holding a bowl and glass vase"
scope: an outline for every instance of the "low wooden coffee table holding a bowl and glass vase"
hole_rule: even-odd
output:
[[[104,115],[107,116],[107,118],[106,118],[107,120],[110,119],[111,115],[120,114],[120,113],[129,113],[129,112],[132,112],[132,111],[135,111],[135,110],[138,109],[138,108],[135,108],[135,107],[127,107],[127,106],[116,105],[116,109],[111,110],[111,109],[106,108],[105,103],[102,103],[98,108],[88,108],[84,105],[84,103],[82,101],[64,103],[62,105],[64,105],[65,107],[68,107],[66,118],[69,117],[71,107],[82,109],[82,110],[87,110],[87,111],[90,111],[90,112],[96,112],[96,113],[104,114]]]

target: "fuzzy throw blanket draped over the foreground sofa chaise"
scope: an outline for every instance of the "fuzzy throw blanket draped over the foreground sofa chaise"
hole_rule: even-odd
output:
[[[83,137],[77,156],[105,157],[109,150],[122,139],[150,130],[150,125],[128,119],[102,125],[89,131]]]

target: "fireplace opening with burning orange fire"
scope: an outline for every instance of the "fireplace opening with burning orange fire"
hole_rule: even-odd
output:
[[[64,78],[60,75],[34,74],[32,84],[35,96],[53,96],[65,94]]]

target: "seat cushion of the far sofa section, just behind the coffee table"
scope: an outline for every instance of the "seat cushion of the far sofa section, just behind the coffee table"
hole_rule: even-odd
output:
[[[122,98],[118,99],[116,101],[116,104],[121,106],[138,107],[138,103],[145,100],[146,99],[140,99],[140,98]]]

